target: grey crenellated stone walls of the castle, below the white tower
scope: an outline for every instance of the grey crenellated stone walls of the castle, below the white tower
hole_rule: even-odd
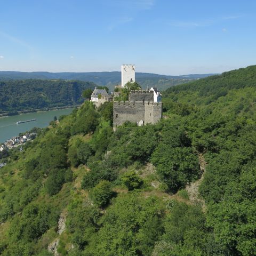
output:
[[[114,130],[126,121],[144,124],[155,124],[162,118],[162,102],[154,101],[155,91],[131,91],[128,102],[114,101]]]

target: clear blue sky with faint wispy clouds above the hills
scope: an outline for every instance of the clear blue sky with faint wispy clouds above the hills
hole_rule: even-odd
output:
[[[255,46],[254,0],[0,0],[0,70],[221,73]]]

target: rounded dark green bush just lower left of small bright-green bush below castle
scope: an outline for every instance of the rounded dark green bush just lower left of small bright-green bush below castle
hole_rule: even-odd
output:
[[[106,206],[113,195],[111,183],[107,180],[100,181],[91,192],[93,202],[99,207]]]

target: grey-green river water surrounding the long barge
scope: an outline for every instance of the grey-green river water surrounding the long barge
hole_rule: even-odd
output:
[[[73,108],[50,110],[43,112],[35,112],[28,114],[21,114],[16,116],[7,116],[0,118],[0,143],[19,135],[20,132],[26,132],[33,127],[46,127],[54,116],[68,115],[72,112]],[[36,121],[16,124],[18,121],[26,121],[30,119],[36,119]]]

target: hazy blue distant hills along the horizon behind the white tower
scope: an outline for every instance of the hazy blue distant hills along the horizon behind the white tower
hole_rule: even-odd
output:
[[[136,80],[143,89],[147,86],[157,86],[159,90],[165,90],[173,85],[183,84],[191,80],[204,78],[213,74],[203,75],[183,75],[167,76],[152,73],[136,73]],[[110,91],[114,90],[115,85],[121,83],[121,72],[84,72],[84,73],[50,73],[50,72],[18,72],[18,71],[0,71],[0,80],[6,79],[63,79],[90,81],[100,86],[108,86]]]

